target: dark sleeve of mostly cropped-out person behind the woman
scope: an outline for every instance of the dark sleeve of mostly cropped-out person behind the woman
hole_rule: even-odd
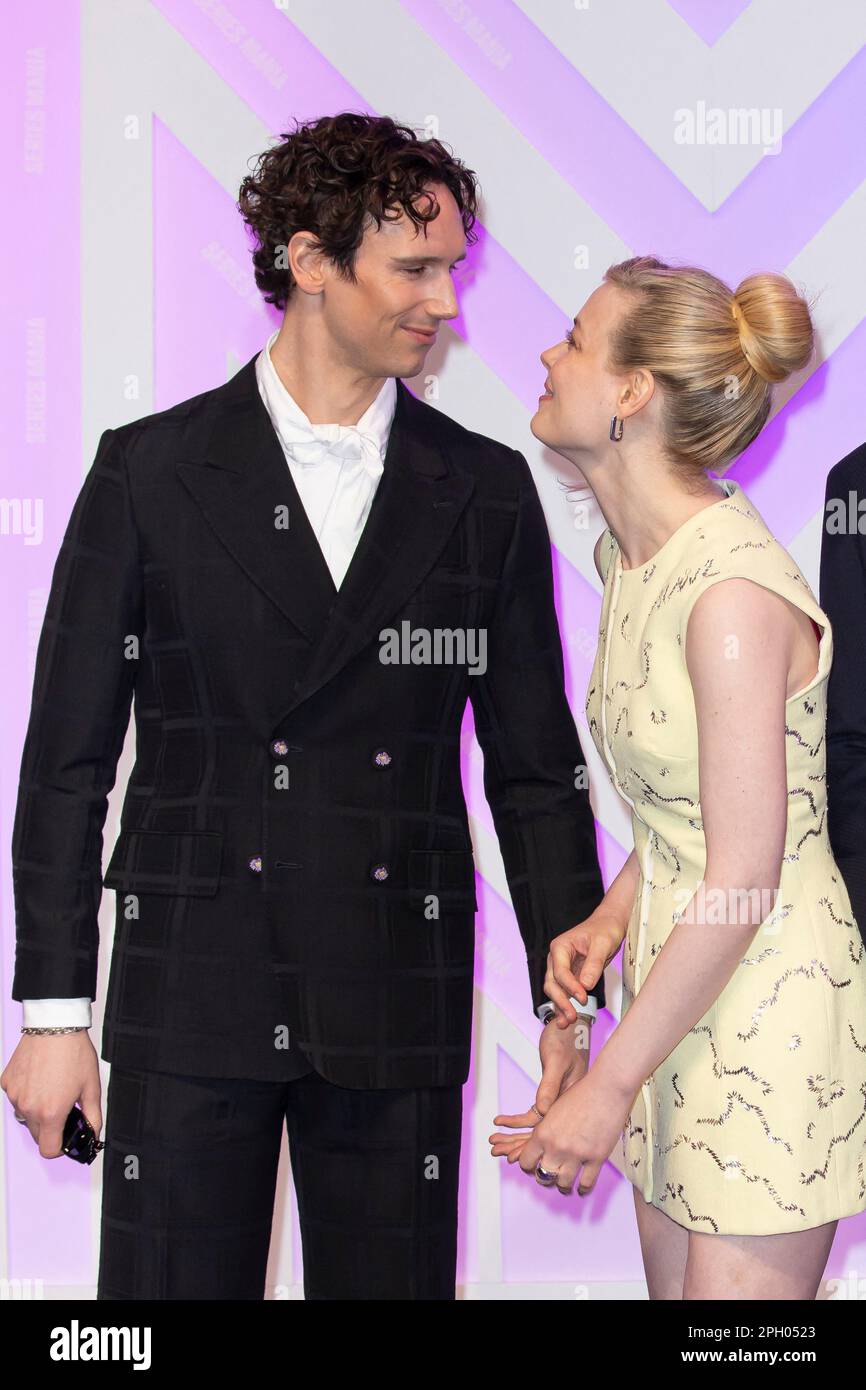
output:
[[[866,478],[866,448],[860,473]],[[856,481],[856,480],[852,480]],[[831,471],[831,498],[848,503],[848,485]],[[827,835],[853,916],[866,940],[866,539],[823,527],[820,606],[833,628],[827,685]]]

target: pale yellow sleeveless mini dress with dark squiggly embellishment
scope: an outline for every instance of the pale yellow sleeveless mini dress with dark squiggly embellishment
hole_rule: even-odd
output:
[[[833,630],[742,488],[721,485],[726,496],[646,564],[623,571],[603,532],[585,708],[610,781],[631,805],[641,866],[623,944],[624,1017],[706,866],[685,664],[692,605],[712,584],[744,577],[823,630],[817,674],[785,705],[778,894],[728,984],[638,1091],[623,1131],[626,1173],[648,1202],[689,1230],[756,1236],[866,1209],[866,955],[827,838]]]

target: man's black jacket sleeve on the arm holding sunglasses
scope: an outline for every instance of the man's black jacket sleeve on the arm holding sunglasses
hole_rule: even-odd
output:
[[[13,826],[13,998],[96,997],[107,798],[143,627],[126,466],[107,430],[54,564]]]

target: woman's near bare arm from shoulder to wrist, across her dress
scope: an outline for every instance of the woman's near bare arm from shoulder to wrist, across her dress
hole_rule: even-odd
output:
[[[751,580],[719,581],[692,607],[685,659],[698,720],[703,888],[721,890],[724,903],[749,906],[728,912],[727,923],[703,924],[698,894],[684,903],[595,1063],[630,1094],[719,997],[767,916],[766,894],[778,888],[788,816],[785,691],[795,638],[784,599]],[[751,897],[733,897],[737,890],[759,890],[759,910]]]

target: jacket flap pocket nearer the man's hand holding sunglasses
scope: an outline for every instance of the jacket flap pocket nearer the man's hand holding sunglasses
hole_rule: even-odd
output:
[[[128,892],[211,898],[221,859],[221,831],[121,830],[103,884]]]

